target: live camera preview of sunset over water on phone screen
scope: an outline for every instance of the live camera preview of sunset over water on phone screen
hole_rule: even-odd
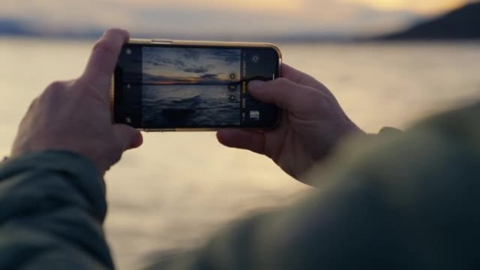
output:
[[[240,124],[240,50],[143,48],[142,126]]]

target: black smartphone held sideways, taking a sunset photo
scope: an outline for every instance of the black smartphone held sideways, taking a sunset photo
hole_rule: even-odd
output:
[[[274,80],[280,67],[269,43],[132,39],[112,78],[113,120],[147,131],[273,128],[280,109],[247,84]]]

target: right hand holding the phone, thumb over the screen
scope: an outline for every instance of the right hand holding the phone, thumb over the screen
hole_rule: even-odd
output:
[[[343,112],[333,94],[312,76],[282,65],[281,78],[252,81],[253,97],[282,110],[274,130],[220,130],[220,143],[265,154],[286,173],[298,179],[335,144],[351,133],[364,133]]]

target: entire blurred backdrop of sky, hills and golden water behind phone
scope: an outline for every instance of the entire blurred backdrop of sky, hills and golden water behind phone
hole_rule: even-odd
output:
[[[81,74],[108,27],[137,38],[265,41],[332,90],[368,133],[480,97],[480,3],[464,0],[0,0],[0,154],[29,103]],[[215,133],[145,133],[107,173],[107,238],[119,269],[201,245],[249,212],[310,190]]]

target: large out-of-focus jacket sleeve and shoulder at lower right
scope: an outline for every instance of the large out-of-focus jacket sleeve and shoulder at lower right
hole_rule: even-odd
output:
[[[322,188],[150,269],[479,269],[480,104],[345,144]]]

